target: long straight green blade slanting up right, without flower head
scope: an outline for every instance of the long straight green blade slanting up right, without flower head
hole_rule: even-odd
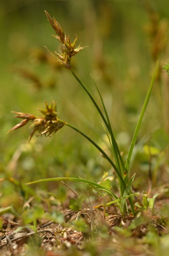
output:
[[[137,139],[137,136],[138,136],[138,132],[140,130],[140,126],[141,126],[141,123],[142,123],[142,120],[143,120],[143,116],[144,116],[147,104],[149,102],[149,99],[150,99],[150,95],[151,95],[151,91],[152,91],[153,84],[154,84],[154,81],[155,81],[155,77],[156,77],[156,74],[157,74],[157,70],[158,70],[158,61],[156,62],[156,66],[154,68],[151,83],[150,83],[146,98],[144,100],[143,108],[142,108],[142,111],[140,113],[140,117],[139,117],[139,120],[138,120],[138,123],[137,123],[137,126],[136,126],[136,130],[135,130],[134,135],[133,135],[133,140],[132,140],[130,148],[129,148],[129,153],[128,153],[128,157],[127,157],[127,160],[126,160],[125,172],[124,172],[124,177],[123,177],[125,179],[125,181],[128,178],[128,172],[129,172],[131,156],[132,156],[132,153],[133,153],[133,148],[134,148],[134,145],[136,143],[136,139]]]

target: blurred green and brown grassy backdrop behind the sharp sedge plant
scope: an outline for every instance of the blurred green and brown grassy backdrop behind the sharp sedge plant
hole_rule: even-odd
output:
[[[54,52],[60,45],[51,36],[55,31],[44,10],[55,16],[72,41],[78,35],[77,45],[82,42],[82,46],[89,46],[72,58],[72,69],[101,107],[92,74],[124,160],[155,62],[160,60],[131,171],[137,173],[135,188],[146,189],[151,159],[154,186],[166,181],[169,82],[162,67],[169,61],[168,0],[0,2],[0,178],[13,177],[25,183],[41,178],[80,176],[98,182],[104,172],[114,175],[97,149],[69,127],[52,138],[34,136],[29,144],[28,125],[6,134],[19,121],[11,111],[39,115],[37,108],[43,108],[44,100],[50,103],[53,97],[58,117],[88,134],[111,156],[102,121],[92,102],[70,71],[61,67],[44,47]],[[1,190],[7,195],[13,186],[5,181]],[[39,186],[48,188],[48,184]],[[115,182],[113,186],[115,189]],[[50,189],[55,187],[56,184],[51,185]]]

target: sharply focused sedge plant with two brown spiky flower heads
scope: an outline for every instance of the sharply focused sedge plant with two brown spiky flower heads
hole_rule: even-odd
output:
[[[131,160],[133,148],[134,148],[134,145],[136,143],[137,135],[138,135],[138,132],[139,132],[142,120],[143,120],[143,116],[144,116],[147,104],[148,104],[149,99],[150,99],[151,91],[152,91],[153,84],[154,84],[154,81],[155,81],[155,77],[156,77],[156,74],[157,74],[158,62],[156,63],[156,66],[154,68],[151,83],[150,83],[147,95],[146,95],[144,103],[143,103],[143,108],[141,110],[138,123],[136,125],[136,130],[134,132],[133,139],[132,139],[132,142],[131,142],[131,145],[130,145],[130,148],[129,148],[129,152],[128,152],[128,157],[127,157],[127,160],[126,160],[126,163],[125,163],[123,161],[122,156],[121,156],[121,152],[120,152],[120,149],[118,147],[118,144],[115,140],[114,133],[113,133],[113,130],[112,130],[112,126],[111,126],[111,123],[110,123],[110,119],[109,119],[109,116],[107,114],[107,110],[106,110],[104,101],[102,99],[102,96],[99,92],[99,88],[97,87],[97,85],[95,84],[95,82],[93,80],[93,82],[95,84],[95,87],[96,87],[96,90],[99,93],[99,97],[100,97],[100,100],[101,100],[101,103],[102,103],[103,111],[99,107],[97,102],[94,100],[94,98],[92,97],[92,95],[89,92],[89,90],[87,89],[87,87],[81,82],[81,80],[77,77],[77,75],[75,74],[75,72],[71,68],[71,58],[74,55],[76,55],[78,52],[80,52],[82,49],[84,49],[85,47],[81,46],[80,44],[76,47],[77,36],[76,36],[75,40],[73,41],[73,43],[71,43],[70,36],[66,36],[62,27],[55,20],[55,18],[51,18],[51,16],[48,14],[48,12],[45,11],[45,13],[47,15],[49,23],[51,24],[51,26],[55,30],[56,35],[53,35],[53,36],[61,43],[61,52],[59,52],[59,53],[55,52],[56,55],[54,55],[53,53],[51,53],[51,54],[53,56],[55,56],[56,60],[62,66],[64,66],[66,69],[70,70],[71,74],[77,80],[77,82],[82,87],[82,89],[85,91],[85,93],[87,93],[90,100],[94,104],[94,107],[99,112],[99,115],[100,115],[100,117],[102,119],[102,122],[103,122],[103,127],[105,129],[105,132],[107,134],[107,137],[108,137],[108,140],[109,140],[109,143],[110,143],[110,147],[112,149],[113,158],[111,159],[106,154],[106,152],[102,148],[100,148],[99,145],[94,140],[92,140],[92,138],[90,138],[88,135],[86,135],[84,132],[82,132],[81,130],[79,130],[78,128],[73,126],[72,124],[69,124],[69,123],[59,119],[57,117],[56,102],[54,100],[52,100],[52,103],[50,105],[48,105],[48,103],[45,102],[45,108],[44,109],[39,109],[42,116],[34,116],[34,115],[31,115],[31,114],[27,114],[27,113],[13,112],[13,113],[17,114],[16,117],[21,118],[23,120],[19,124],[15,125],[13,128],[11,128],[11,130],[9,132],[14,131],[14,130],[26,125],[28,122],[32,123],[30,125],[30,128],[31,128],[31,133],[30,133],[30,137],[29,137],[29,141],[30,141],[31,138],[33,137],[33,135],[35,134],[35,132],[38,132],[36,134],[36,136],[45,135],[47,137],[47,136],[54,135],[55,132],[60,130],[63,126],[68,126],[69,128],[73,129],[74,131],[78,132],[83,137],[85,137],[85,139],[87,139],[90,143],[92,143],[93,146],[101,152],[101,154],[107,159],[109,164],[114,168],[114,171],[116,172],[117,177],[118,177],[118,181],[119,181],[120,197],[115,195],[114,192],[112,191],[110,180],[107,180],[107,182],[104,185],[103,184],[100,185],[100,184],[92,182],[90,180],[84,180],[84,179],[81,179],[81,178],[65,178],[65,177],[62,177],[62,178],[59,177],[58,178],[57,177],[57,178],[36,180],[36,181],[29,182],[27,184],[33,184],[33,183],[38,183],[38,182],[42,182],[42,181],[47,182],[47,181],[58,181],[58,180],[72,180],[72,181],[84,182],[84,183],[89,184],[92,188],[94,188],[101,196],[104,197],[104,195],[106,193],[110,197],[114,198],[113,201],[111,201],[107,204],[98,205],[95,208],[101,207],[103,205],[104,206],[109,206],[111,204],[116,203],[119,207],[119,210],[120,210],[122,216],[124,216],[125,212],[126,212],[126,207],[128,207],[127,203],[126,203],[126,199],[128,198],[129,204],[130,204],[128,212],[135,215],[136,212],[135,212],[135,209],[134,209],[135,205],[134,205],[134,202],[133,202],[133,196],[135,196],[136,193],[131,193],[131,187],[132,187],[132,183],[133,183],[135,175],[133,175],[131,178],[129,178],[129,176],[130,176],[129,166],[130,166],[130,160]]]

